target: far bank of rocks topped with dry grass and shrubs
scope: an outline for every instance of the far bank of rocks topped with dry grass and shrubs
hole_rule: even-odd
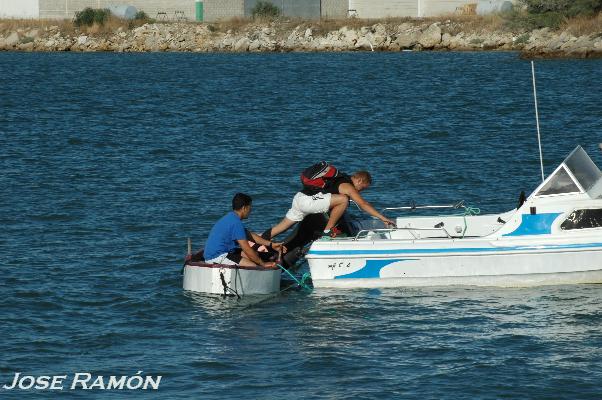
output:
[[[602,1],[602,0],[601,0]],[[526,11],[440,18],[232,19],[216,23],[122,20],[87,13],[79,21],[0,21],[5,51],[519,51],[527,57],[602,57],[602,14],[534,23]],[[543,29],[542,29],[543,28]]]

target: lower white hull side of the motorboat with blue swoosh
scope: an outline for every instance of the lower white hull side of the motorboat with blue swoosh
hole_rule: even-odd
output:
[[[368,250],[369,251],[369,250]],[[315,287],[539,286],[602,283],[602,246],[390,249],[310,255]],[[311,253],[311,252],[310,252]],[[344,251],[342,252],[344,253]]]

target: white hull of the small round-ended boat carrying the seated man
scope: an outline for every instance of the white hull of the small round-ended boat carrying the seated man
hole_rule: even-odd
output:
[[[184,290],[199,293],[224,294],[221,275],[231,289],[226,290],[229,295],[271,294],[280,290],[281,271],[273,268],[190,263],[183,274]]]

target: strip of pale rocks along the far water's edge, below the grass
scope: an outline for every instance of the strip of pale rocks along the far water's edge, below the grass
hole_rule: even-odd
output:
[[[357,22],[355,22],[357,25]],[[548,28],[526,31],[471,31],[450,20],[375,23],[324,29],[249,23],[232,29],[210,24],[149,23],[110,33],[62,31],[59,26],[2,29],[0,50],[108,52],[339,52],[339,51],[519,51],[523,57],[602,57],[602,32],[575,36]]]

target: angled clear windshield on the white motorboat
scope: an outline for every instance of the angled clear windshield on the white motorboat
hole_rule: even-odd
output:
[[[600,169],[585,150],[577,146],[548,178],[546,184],[537,192],[537,196],[579,193],[580,187],[587,191],[598,182],[600,177],[602,177]]]

